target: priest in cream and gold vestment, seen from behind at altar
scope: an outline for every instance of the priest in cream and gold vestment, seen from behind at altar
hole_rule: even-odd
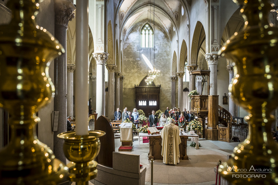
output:
[[[175,125],[175,120],[171,119],[169,124],[164,125],[161,131],[163,163],[179,163],[179,127]]]

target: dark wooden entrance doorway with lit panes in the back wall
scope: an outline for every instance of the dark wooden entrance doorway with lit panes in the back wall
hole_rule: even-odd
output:
[[[136,109],[142,109],[145,116],[152,114],[152,110],[159,109],[159,93],[161,85],[155,85],[154,82],[150,84],[145,83],[145,78],[139,85],[135,85],[136,93]]]

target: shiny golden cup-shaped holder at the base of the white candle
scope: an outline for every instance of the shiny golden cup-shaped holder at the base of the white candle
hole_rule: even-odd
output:
[[[58,134],[57,137],[64,139],[64,154],[71,161],[69,167],[70,175],[68,179],[76,182],[76,185],[88,184],[88,181],[97,176],[97,162],[93,161],[99,154],[99,138],[105,132],[94,130],[89,131],[86,136],[75,135],[74,131]]]

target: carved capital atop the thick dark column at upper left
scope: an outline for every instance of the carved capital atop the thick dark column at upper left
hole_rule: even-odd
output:
[[[70,0],[54,0],[55,24],[68,27],[69,21],[74,18],[74,4]]]

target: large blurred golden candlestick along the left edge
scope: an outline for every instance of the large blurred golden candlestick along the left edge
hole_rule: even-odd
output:
[[[57,184],[68,168],[36,136],[36,112],[54,97],[48,76],[63,47],[36,26],[38,0],[10,0],[12,20],[0,26],[0,106],[11,114],[11,139],[0,151],[1,184]],[[50,123],[49,123],[50,124]]]

